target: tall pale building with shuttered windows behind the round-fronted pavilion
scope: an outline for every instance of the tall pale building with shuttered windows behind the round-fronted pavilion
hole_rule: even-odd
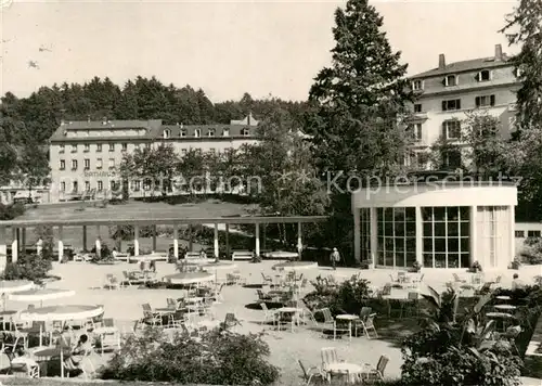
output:
[[[414,138],[414,159],[410,162],[424,168],[422,154],[439,138],[459,147],[463,125],[468,112],[487,112],[500,121],[499,130],[509,137],[515,124],[516,92],[519,81],[508,56],[495,46],[493,56],[446,63],[440,54],[438,67],[411,77],[416,102],[409,129]],[[462,152],[449,154],[450,167],[460,166]]]

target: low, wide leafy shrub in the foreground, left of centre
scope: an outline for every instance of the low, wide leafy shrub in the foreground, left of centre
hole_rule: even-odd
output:
[[[279,370],[266,361],[268,345],[259,335],[212,330],[194,339],[188,334],[168,338],[146,329],[130,336],[100,369],[104,379],[175,382],[178,384],[270,385]]]

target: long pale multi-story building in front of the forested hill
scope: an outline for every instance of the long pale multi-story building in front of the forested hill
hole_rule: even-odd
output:
[[[171,143],[182,156],[190,150],[223,152],[256,143],[251,115],[230,125],[163,125],[152,120],[64,121],[50,139],[51,198],[118,189],[122,156],[141,146]]]

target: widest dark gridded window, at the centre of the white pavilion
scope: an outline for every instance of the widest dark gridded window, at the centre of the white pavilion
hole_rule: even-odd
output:
[[[422,208],[424,267],[469,267],[469,209],[468,206]]]

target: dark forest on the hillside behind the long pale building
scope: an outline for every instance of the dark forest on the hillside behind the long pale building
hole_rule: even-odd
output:
[[[94,77],[80,83],[41,87],[27,98],[7,92],[0,104],[0,183],[14,172],[48,172],[47,144],[62,119],[163,119],[164,124],[229,124],[249,112],[258,120],[276,110],[301,123],[305,102],[276,98],[255,100],[245,93],[238,101],[212,103],[205,91],[190,85],[164,85],[155,77],[137,77],[124,86]],[[41,170],[41,171],[40,171]]]

